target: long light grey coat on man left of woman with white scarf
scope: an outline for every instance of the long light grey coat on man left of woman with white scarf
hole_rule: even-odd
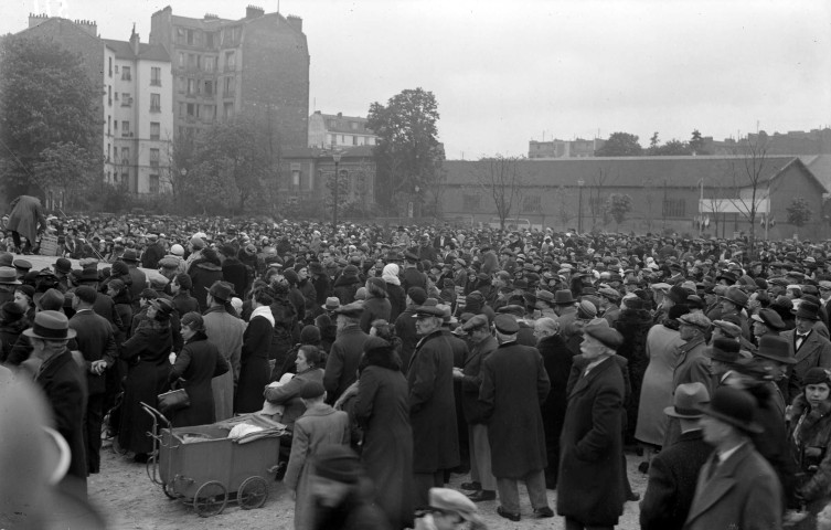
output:
[[[221,422],[234,415],[234,384],[239,379],[245,322],[228,315],[224,307],[209,309],[204,320],[207,340],[216,346],[220,354],[231,365],[231,370],[211,381],[216,421]]]

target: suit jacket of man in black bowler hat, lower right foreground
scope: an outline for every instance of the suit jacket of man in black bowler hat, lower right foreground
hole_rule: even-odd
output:
[[[748,441],[715,469],[701,468],[684,530],[781,528],[782,490],[776,473]]]

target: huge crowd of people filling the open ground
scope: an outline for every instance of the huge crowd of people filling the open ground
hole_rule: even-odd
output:
[[[32,269],[39,235],[7,234],[0,361],[79,495],[105,413],[147,462],[139,403],[183,388],[174,426],[287,425],[299,529],[520,521],[519,483],[532,517],[612,528],[627,452],[644,529],[831,528],[827,242],[41,218],[61,256]]]

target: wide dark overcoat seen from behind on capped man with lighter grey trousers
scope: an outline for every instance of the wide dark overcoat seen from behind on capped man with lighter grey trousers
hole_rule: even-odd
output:
[[[497,478],[522,478],[548,465],[540,403],[551,382],[536,348],[502,343],[482,361],[479,401]]]

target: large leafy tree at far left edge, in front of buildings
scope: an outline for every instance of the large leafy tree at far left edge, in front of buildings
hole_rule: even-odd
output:
[[[58,152],[72,155],[66,173],[76,177],[86,174],[79,168],[100,162],[99,102],[100,87],[89,81],[79,56],[47,40],[3,39],[0,174],[7,193],[46,191],[49,182],[40,181],[36,166],[49,168],[53,179],[60,172]]]

